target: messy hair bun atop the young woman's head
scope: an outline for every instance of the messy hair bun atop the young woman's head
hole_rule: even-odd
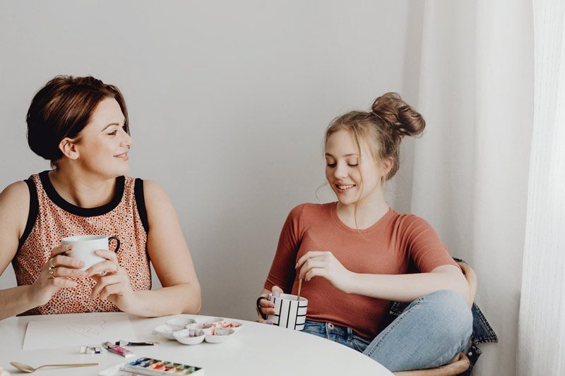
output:
[[[419,135],[426,126],[422,115],[404,102],[396,92],[387,92],[375,99],[371,112],[386,121],[392,131],[400,137]]]

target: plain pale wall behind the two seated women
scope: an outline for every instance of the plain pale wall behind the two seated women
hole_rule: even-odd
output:
[[[205,314],[254,318],[287,213],[318,200],[328,122],[386,91],[417,97],[420,6],[408,1],[0,6],[0,186],[48,168],[28,148],[25,114],[49,78],[117,85],[131,175],[161,183],[177,207]],[[388,187],[399,210],[411,155]],[[14,285],[8,267],[0,288]]]

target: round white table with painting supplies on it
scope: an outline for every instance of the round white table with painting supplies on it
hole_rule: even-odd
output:
[[[12,375],[18,375],[18,371],[10,365],[11,361],[19,361],[35,367],[48,363],[99,363],[95,367],[88,368],[57,370],[44,368],[37,371],[37,375],[44,376],[80,376],[97,375],[98,372],[113,365],[124,363],[126,359],[114,353],[81,354],[78,346],[22,350],[28,322],[64,317],[82,318],[88,315],[91,314],[25,316],[1,320],[0,366]],[[126,314],[107,313],[106,315],[116,317]],[[206,376],[393,375],[375,360],[347,346],[273,325],[237,320],[242,322],[244,327],[222,344],[205,342],[198,345],[183,345],[151,334],[154,327],[164,324],[174,316],[155,318],[128,316],[138,339],[160,341],[157,346],[129,347],[136,355],[203,367]]]

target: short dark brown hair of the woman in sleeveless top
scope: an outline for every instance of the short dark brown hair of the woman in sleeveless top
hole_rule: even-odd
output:
[[[106,98],[118,102],[126,118],[124,128],[129,134],[126,102],[117,87],[90,75],[58,75],[49,80],[33,97],[25,117],[30,149],[55,166],[57,159],[63,157],[59,142],[66,137],[76,138],[90,121],[97,105]]]

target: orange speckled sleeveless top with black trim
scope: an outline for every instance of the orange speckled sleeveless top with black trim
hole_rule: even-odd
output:
[[[51,250],[66,236],[107,235],[121,241],[118,263],[129,278],[133,291],[151,289],[151,272],[147,253],[148,221],[143,198],[143,181],[139,178],[116,178],[114,198],[106,205],[82,208],[67,202],[52,186],[49,171],[30,176],[25,183],[30,190],[30,212],[12,260],[18,286],[33,284]],[[73,279],[75,288],[60,289],[51,300],[22,315],[54,313],[88,313],[119,311],[110,301],[90,299],[95,286],[91,278]]]

